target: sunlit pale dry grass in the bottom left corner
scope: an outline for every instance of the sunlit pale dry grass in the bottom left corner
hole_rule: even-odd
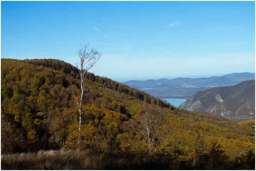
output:
[[[99,162],[102,156],[90,153],[89,150],[40,150],[36,153],[2,154],[3,170],[78,170],[99,169],[106,167],[108,160]]]

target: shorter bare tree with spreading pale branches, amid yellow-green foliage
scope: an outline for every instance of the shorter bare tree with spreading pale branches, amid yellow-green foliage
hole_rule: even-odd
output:
[[[159,128],[162,121],[163,111],[160,107],[147,104],[143,104],[142,109],[137,111],[139,114],[136,119],[133,119],[132,125],[129,127],[142,133],[148,144],[149,153],[151,153],[154,144],[157,142],[156,138],[160,132]]]

